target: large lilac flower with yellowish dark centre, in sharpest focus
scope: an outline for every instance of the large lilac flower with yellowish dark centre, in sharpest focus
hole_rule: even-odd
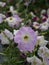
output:
[[[37,35],[30,27],[21,27],[14,36],[15,43],[21,51],[30,51],[34,49],[37,41]]]

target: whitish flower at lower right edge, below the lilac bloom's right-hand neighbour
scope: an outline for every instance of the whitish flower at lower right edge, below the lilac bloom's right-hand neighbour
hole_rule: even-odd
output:
[[[49,49],[45,46],[40,47],[38,50],[38,55],[42,58],[49,58]]]

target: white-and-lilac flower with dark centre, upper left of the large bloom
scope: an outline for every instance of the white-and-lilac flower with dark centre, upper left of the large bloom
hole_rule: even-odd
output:
[[[22,19],[18,15],[13,15],[11,17],[6,18],[5,20],[10,27],[19,26],[19,23]]]

